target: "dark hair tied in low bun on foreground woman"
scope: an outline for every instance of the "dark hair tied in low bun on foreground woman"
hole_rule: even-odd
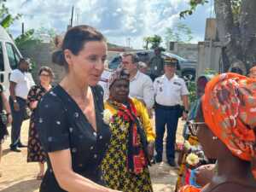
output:
[[[84,44],[90,41],[106,42],[106,38],[104,38],[101,32],[98,32],[91,26],[73,26],[67,31],[63,39],[61,49],[56,50],[53,53],[52,61],[68,69],[63,51],[65,49],[69,49],[73,55],[79,55],[79,51],[84,49]]]

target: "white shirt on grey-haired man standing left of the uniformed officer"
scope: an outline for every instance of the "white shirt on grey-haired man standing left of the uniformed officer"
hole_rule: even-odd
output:
[[[154,87],[148,75],[137,71],[130,80],[130,96],[145,102],[147,108],[154,106]]]

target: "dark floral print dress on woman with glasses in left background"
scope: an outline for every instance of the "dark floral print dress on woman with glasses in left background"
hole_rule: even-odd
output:
[[[42,85],[34,85],[27,96],[28,106],[32,102],[40,101],[42,96],[47,92]],[[38,131],[35,127],[35,110],[32,110],[27,143],[27,162],[41,162],[46,161],[46,154],[41,146],[38,138]]]

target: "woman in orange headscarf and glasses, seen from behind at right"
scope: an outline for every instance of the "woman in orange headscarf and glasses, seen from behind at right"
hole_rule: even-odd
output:
[[[256,79],[224,73],[208,82],[191,130],[208,158],[218,160],[203,189],[181,192],[256,191]]]

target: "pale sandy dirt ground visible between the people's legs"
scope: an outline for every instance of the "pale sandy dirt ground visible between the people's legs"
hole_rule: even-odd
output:
[[[23,123],[21,131],[22,143],[27,143],[28,121]],[[179,122],[177,141],[182,141],[183,122]],[[10,132],[10,131],[9,131]],[[40,181],[36,180],[37,163],[26,163],[26,148],[21,153],[9,151],[10,137],[3,143],[3,159],[0,165],[1,192],[38,192]],[[172,192],[177,179],[177,168],[161,163],[150,167],[154,192]]]

